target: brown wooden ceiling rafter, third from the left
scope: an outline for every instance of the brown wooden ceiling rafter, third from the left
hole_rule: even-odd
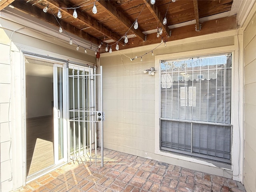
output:
[[[96,4],[100,5],[106,12],[108,12],[111,16],[113,16],[116,20],[122,23],[126,28],[130,28],[132,26],[132,22],[126,18],[122,13],[118,12],[118,10],[110,4],[108,1],[97,1]],[[145,41],[146,36],[142,33],[142,31],[138,29],[134,29],[133,27],[130,29],[136,36],[138,36],[141,40]]]

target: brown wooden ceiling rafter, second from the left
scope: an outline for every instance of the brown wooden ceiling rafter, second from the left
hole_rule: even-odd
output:
[[[49,5],[54,6],[55,8],[60,8],[60,7],[68,7],[68,5],[66,3],[63,3],[64,1],[58,1],[58,3],[56,1],[53,0],[49,0],[48,3]],[[68,14],[69,16],[73,17],[73,12],[74,10],[72,9],[61,9],[62,12],[65,12],[66,14]],[[82,22],[83,24],[86,24],[88,26],[90,26],[90,28],[93,28],[94,30],[98,31],[99,33],[102,33],[103,35],[118,41],[120,39],[120,36],[114,32],[112,32],[110,29],[102,26],[102,24],[100,24],[99,22],[97,22],[96,20],[94,20],[94,18],[88,16],[87,14],[85,14],[84,12],[80,12],[78,9],[76,10],[77,14],[78,14],[78,18],[77,20],[79,20],[80,22]],[[120,42],[122,44],[122,42]]]

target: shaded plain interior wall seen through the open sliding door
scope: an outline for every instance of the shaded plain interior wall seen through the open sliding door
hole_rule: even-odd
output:
[[[53,78],[26,76],[26,118],[52,115]]]

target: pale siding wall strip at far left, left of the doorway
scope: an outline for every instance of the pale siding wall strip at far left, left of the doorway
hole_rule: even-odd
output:
[[[0,165],[1,165],[1,188],[2,191],[12,190],[11,154],[10,149],[10,118],[8,118],[11,70],[9,60],[10,40],[3,29],[0,29]]]

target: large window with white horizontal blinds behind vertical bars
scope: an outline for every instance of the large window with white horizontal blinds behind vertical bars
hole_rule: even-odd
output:
[[[230,164],[231,54],[160,65],[160,149]]]

